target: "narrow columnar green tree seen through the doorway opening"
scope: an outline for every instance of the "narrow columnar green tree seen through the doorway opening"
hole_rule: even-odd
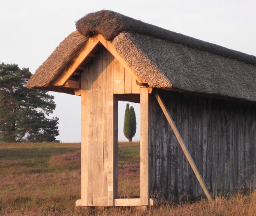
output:
[[[126,109],[124,113],[124,136],[132,141],[132,138],[136,134],[136,116],[134,112],[134,108],[131,106],[129,108],[129,104],[126,104]]]

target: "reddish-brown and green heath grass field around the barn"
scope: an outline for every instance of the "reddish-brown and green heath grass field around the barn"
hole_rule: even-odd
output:
[[[139,143],[119,143],[118,194],[139,194]],[[0,143],[0,215],[256,216],[256,191],[211,203],[170,203],[146,212],[134,207],[76,208],[80,143]]]

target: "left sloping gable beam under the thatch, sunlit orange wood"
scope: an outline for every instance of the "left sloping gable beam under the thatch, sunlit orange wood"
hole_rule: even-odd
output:
[[[90,54],[94,47],[99,43],[97,37],[90,37],[84,47],[81,49],[79,55],[74,59],[73,63],[65,69],[60,76],[56,78],[52,85],[62,86],[71,77],[72,73],[78,68],[78,66],[84,61],[84,59]]]

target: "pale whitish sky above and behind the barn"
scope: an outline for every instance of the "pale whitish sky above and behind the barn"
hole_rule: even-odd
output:
[[[114,10],[171,31],[256,56],[255,0],[185,1],[0,0],[0,62],[36,69],[72,31],[75,22],[98,10]],[[52,93],[62,142],[80,141],[80,97]],[[120,103],[124,110],[126,103]],[[133,105],[139,119],[139,106]],[[124,112],[124,111],[123,111]],[[119,140],[123,115],[119,117]],[[139,121],[137,120],[137,126]],[[134,140],[139,140],[139,130]]]

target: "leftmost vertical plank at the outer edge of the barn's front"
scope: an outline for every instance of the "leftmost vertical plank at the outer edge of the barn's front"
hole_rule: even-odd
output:
[[[84,206],[88,205],[88,131],[91,127],[88,91],[87,67],[81,75],[81,201]]]

